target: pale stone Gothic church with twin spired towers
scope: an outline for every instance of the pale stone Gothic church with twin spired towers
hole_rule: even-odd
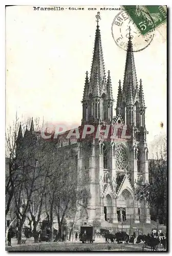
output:
[[[81,102],[79,130],[83,131],[85,125],[90,125],[95,127],[95,131],[101,127],[101,132],[98,137],[93,133],[87,139],[74,140],[60,135],[57,143],[58,150],[60,147],[72,147],[76,152],[77,189],[83,187],[90,195],[87,207],[78,211],[77,225],[84,222],[102,226],[106,223],[125,225],[131,220],[136,225],[150,223],[148,205],[137,201],[134,192],[138,183],[148,182],[148,132],[143,85],[141,79],[137,80],[132,36],[130,34],[128,38],[123,85],[119,80],[114,116],[111,75],[108,71],[106,78],[98,18],[91,74],[89,76],[86,72]],[[20,125],[17,151],[30,137],[29,134],[36,135],[33,119],[24,138]],[[88,182],[81,187],[79,184],[83,177],[87,177]]]

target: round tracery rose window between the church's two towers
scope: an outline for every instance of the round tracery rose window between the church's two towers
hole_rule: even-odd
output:
[[[127,165],[128,165],[127,153],[122,147],[122,145],[119,145],[116,148],[116,168],[119,170],[124,170],[126,169]]]

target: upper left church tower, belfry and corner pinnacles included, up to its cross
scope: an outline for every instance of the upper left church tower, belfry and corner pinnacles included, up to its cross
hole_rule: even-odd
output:
[[[111,123],[113,120],[113,95],[110,71],[105,78],[101,35],[99,30],[100,13],[96,15],[97,28],[90,80],[86,73],[82,98],[82,124]]]

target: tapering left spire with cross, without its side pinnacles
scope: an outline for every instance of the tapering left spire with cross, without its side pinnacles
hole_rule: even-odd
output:
[[[99,30],[99,19],[100,13],[96,15],[97,18],[97,28],[94,42],[94,53],[93,53],[93,61],[90,75],[90,90],[89,93],[95,93],[95,74],[98,78],[98,95],[94,94],[93,96],[101,96],[101,94],[106,93],[106,80],[105,80],[105,70],[104,70],[104,60],[103,60],[103,51],[101,45],[101,34]]]

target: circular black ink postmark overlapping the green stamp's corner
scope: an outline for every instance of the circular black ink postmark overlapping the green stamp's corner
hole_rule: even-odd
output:
[[[154,38],[154,29],[143,36],[125,11],[120,11],[115,16],[111,30],[116,45],[125,51],[127,50],[129,33],[131,34],[133,52],[144,50]]]

